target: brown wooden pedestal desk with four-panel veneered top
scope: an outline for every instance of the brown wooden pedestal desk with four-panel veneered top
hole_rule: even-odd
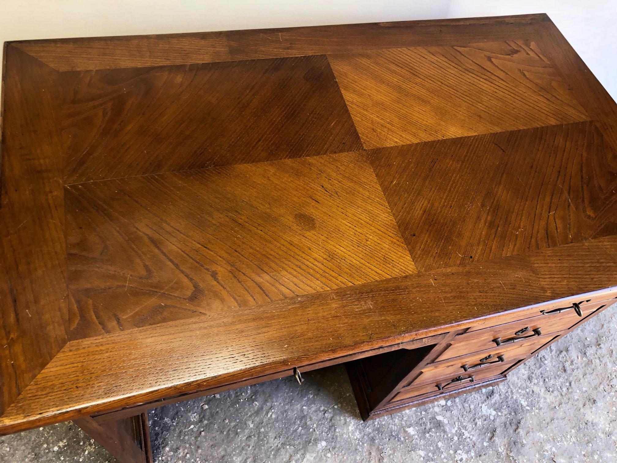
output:
[[[617,296],[617,107],[546,15],[12,42],[3,85],[1,433],[143,462],[147,409],[340,362],[369,419]]]

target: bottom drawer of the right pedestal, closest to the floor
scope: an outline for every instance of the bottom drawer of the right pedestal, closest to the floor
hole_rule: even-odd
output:
[[[398,394],[396,394],[391,402],[408,399],[410,397],[421,396],[423,394],[428,394],[431,392],[438,393],[439,391],[447,392],[451,390],[457,390],[458,388],[468,386],[471,383],[476,383],[500,375],[502,372],[505,372],[505,370],[510,368],[518,361],[519,359],[507,362],[499,362],[499,364],[493,364],[489,367],[482,368],[478,372],[463,372],[462,374],[455,373],[446,377],[437,378],[436,380],[428,383],[423,383],[421,385],[408,386],[406,388],[403,388]]]

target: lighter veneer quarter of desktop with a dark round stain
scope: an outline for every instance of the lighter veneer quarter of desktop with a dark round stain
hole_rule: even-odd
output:
[[[66,208],[72,338],[416,272],[363,153],[83,183]]]

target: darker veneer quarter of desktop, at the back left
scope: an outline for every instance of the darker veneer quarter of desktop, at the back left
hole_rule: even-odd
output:
[[[65,183],[362,148],[324,56],[63,75]]]

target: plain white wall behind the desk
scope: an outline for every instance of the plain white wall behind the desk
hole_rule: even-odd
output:
[[[0,0],[0,42],[547,13],[617,99],[617,0]]]

